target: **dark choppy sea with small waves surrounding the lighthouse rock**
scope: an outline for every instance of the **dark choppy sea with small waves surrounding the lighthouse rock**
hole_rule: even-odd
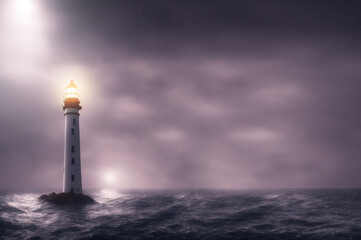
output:
[[[361,189],[108,189],[88,205],[43,193],[0,193],[0,239],[361,239]]]

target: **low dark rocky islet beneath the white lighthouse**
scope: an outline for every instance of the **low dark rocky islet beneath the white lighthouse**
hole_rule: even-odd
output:
[[[96,201],[83,194],[74,194],[74,193],[49,193],[43,194],[39,197],[40,201],[49,202],[56,205],[85,205],[93,204]]]

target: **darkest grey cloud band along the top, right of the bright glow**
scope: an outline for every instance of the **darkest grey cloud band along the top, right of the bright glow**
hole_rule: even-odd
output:
[[[172,58],[200,51],[254,57],[275,54],[290,41],[360,39],[357,1],[62,1],[53,5],[64,23],[55,34],[60,44],[80,50],[90,46],[107,55],[131,52]]]

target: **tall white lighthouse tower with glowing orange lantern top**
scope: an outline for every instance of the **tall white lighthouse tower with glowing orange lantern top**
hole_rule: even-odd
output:
[[[80,164],[80,109],[78,87],[71,80],[65,89],[63,105],[65,116],[63,192],[65,193],[83,193]]]

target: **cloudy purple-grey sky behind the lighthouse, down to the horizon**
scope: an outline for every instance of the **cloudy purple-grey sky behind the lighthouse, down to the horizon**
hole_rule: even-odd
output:
[[[361,187],[359,1],[0,0],[0,189]]]

